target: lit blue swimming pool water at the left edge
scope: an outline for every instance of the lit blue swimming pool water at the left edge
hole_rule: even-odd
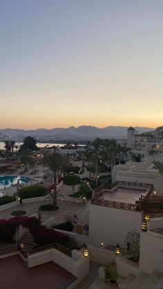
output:
[[[30,178],[28,177],[12,177],[12,176],[0,176],[0,188],[7,188],[11,185],[19,185],[23,183],[28,183]]]

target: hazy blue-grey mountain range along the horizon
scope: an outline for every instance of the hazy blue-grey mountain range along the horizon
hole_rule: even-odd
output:
[[[135,131],[148,132],[153,128],[134,127]],[[41,139],[94,139],[100,138],[116,138],[122,139],[127,136],[128,127],[125,126],[107,126],[106,128],[97,128],[95,126],[70,126],[69,128],[52,128],[50,130],[46,128],[38,128],[36,130],[21,130],[5,128],[0,130],[0,134],[7,137],[36,137]]]

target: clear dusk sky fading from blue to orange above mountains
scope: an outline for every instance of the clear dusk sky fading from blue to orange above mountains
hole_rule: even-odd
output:
[[[163,125],[162,0],[0,0],[0,128]]]

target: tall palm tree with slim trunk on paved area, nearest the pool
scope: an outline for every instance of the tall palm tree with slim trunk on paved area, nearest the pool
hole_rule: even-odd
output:
[[[59,152],[53,152],[52,155],[45,157],[46,165],[50,168],[53,173],[53,192],[52,192],[52,206],[54,210],[57,210],[57,172],[61,170],[63,165],[63,157]]]

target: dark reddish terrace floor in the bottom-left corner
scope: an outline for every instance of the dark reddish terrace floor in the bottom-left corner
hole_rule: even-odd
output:
[[[52,261],[28,268],[19,255],[0,259],[0,266],[1,289],[59,289],[75,279]]]

